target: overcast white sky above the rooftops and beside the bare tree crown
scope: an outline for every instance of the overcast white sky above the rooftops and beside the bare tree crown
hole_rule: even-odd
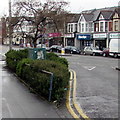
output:
[[[0,1],[0,16],[3,16],[8,12],[8,1]],[[12,2],[14,0],[11,0]],[[56,0],[57,1],[57,0]],[[83,10],[89,10],[94,8],[104,8],[118,6],[120,0],[64,0],[69,2],[68,10],[74,13],[80,13]]]

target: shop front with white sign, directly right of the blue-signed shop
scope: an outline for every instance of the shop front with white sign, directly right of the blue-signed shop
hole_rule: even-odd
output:
[[[109,39],[107,33],[93,34],[93,39],[94,47],[99,47],[100,50],[108,47]]]

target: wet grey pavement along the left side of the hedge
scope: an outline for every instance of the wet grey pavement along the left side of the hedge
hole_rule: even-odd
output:
[[[4,58],[3,54],[8,50],[8,47],[3,46],[0,51],[0,117],[72,118],[64,105],[57,108],[54,104],[31,93],[28,88],[6,68],[5,62],[2,61],[2,59]]]

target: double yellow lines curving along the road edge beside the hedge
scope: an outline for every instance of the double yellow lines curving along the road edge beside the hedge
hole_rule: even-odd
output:
[[[73,75],[73,74],[74,75]],[[66,106],[68,108],[68,111],[70,112],[70,114],[73,116],[73,118],[80,120],[80,117],[74,112],[74,110],[72,109],[71,105],[70,105],[70,89],[72,87],[72,81],[73,80],[73,105],[75,107],[75,109],[77,110],[77,112],[79,113],[79,115],[86,119],[86,120],[91,120],[84,112],[83,110],[80,108],[80,106],[77,104],[76,101],[76,73],[74,70],[70,70],[70,84],[69,84],[69,90],[67,93],[67,101],[66,101]]]

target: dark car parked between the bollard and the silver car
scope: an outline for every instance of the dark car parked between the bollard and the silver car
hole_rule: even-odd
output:
[[[80,54],[81,51],[75,46],[65,46],[65,53]]]

